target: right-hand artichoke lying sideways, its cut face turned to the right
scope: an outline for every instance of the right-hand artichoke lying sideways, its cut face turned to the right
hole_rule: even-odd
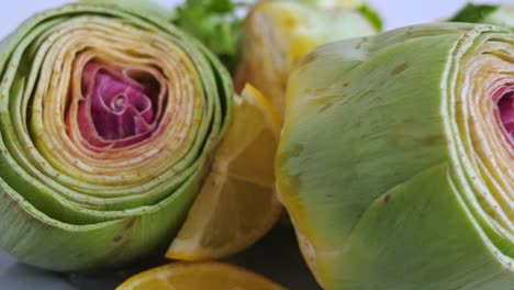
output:
[[[342,41],[292,74],[279,197],[325,289],[512,289],[514,35]]]

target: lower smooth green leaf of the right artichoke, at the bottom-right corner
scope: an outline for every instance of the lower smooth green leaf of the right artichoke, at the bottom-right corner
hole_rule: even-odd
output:
[[[511,289],[513,272],[481,238],[449,170],[435,166],[375,200],[334,261],[337,280],[327,289]]]

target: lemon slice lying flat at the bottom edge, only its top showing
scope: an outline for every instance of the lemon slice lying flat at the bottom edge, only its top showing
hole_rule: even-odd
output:
[[[241,267],[222,263],[174,263],[141,272],[116,290],[286,290]]]

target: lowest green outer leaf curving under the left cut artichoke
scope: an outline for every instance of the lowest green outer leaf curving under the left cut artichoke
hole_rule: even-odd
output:
[[[1,181],[1,180],[0,180]],[[0,182],[1,247],[20,261],[57,271],[98,271],[169,245],[200,189],[191,179],[158,207],[110,222],[72,225],[51,219]]]

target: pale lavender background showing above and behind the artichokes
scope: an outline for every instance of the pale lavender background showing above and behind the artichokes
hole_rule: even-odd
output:
[[[181,0],[156,1],[171,8],[175,3],[180,2]],[[70,0],[15,0],[2,2],[2,9],[0,10],[0,37],[9,34],[18,24],[20,24],[20,22],[33,13],[70,2]],[[369,0],[369,2],[371,2],[381,13],[384,19],[387,30],[447,18],[452,15],[455,11],[462,8],[467,2],[514,4],[514,0]]]

